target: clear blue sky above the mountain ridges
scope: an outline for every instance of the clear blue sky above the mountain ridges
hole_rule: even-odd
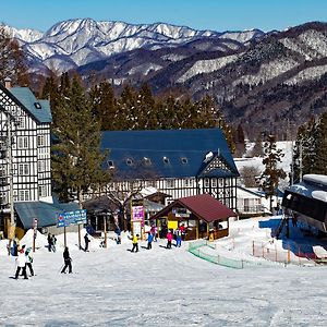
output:
[[[69,19],[165,22],[195,29],[284,29],[327,21],[327,0],[10,0],[1,1],[0,22],[47,31]]]

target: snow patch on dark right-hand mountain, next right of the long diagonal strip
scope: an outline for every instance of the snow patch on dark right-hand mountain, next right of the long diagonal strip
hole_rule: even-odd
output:
[[[276,59],[268,63],[263,63],[258,73],[255,75],[244,75],[241,78],[233,82],[233,86],[239,84],[258,85],[265,83],[291,69],[299,65],[295,60],[292,59]]]

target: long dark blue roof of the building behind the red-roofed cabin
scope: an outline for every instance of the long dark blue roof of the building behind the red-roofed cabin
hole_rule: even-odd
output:
[[[106,131],[101,149],[109,150],[108,160],[126,178],[146,179],[146,172],[159,178],[197,177],[209,152],[219,153],[230,168],[230,172],[215,169],[210,177],[239,175],[219,129]],[[165,157],[168,162],[164,161]],[[144,158],[148,158],[150,165],[146,165]],[[129,166],[126,159],[132,159],[133,165]]]

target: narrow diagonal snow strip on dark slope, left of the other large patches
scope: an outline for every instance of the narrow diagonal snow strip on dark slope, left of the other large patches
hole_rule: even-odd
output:
[[[228,63],[233,62],[238,59],[237,55],[227,56],[218,59],[199,60],[196,61],[190,70],[187,70],[177,82],[184,83],[191,77],[203,74],[211,73],[226,66]]]

